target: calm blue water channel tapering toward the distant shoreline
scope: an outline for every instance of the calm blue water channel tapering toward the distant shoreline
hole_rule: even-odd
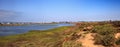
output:
[[[26,33],[30,30],[47,30],[61,26],[72,26],[73,24],[36,24],[25,26],[0,26],[0,36]]]

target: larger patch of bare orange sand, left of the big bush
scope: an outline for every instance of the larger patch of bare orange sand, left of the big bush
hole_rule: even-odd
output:
[[[103,47],[101,45],[95,45],[93,41],[92,33],[85,34],[84,38],[80,38],[77,41],[81,42],[83,47]]]

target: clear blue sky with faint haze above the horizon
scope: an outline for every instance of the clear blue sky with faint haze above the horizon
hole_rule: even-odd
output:
[[[120,20],[119,0],[0,0],[0,22]]]

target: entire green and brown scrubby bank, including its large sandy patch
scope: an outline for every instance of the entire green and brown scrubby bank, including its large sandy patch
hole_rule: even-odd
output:
[[[50,30],[0,37],[1,47],[119,47],[119,21],[82,22]],[[90,36],[91,35],[91,36]],[[93,38],[93,40],[89,40]],[[81,40],[85,40],[81,42]],[[92,41],[92,42],[91,42]],[[94,42],[94,43],[93,43]],[[86,44],[87,43],[87,44]],[[88,45],[93,43],[92,46]],[[85,45],[84,45],[85,44]]]

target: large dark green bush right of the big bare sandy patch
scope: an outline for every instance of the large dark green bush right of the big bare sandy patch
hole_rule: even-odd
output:
[[[116,31],[110,24],[95,26],[92,32],[96,33],[96,36],[94,36],[96,44],[112,46],[115,43],[114,34]]]

